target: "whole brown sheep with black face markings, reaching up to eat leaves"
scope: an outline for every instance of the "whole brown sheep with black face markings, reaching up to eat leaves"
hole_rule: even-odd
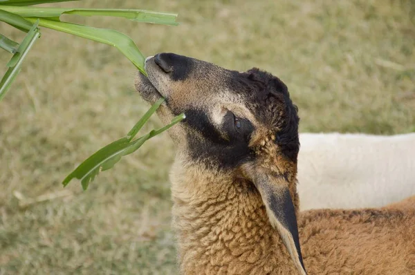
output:
[[[297,107],[286,85],[160,53],[136,90],[160,97],[181,274],[414,274],[415,205],[299,212]]]

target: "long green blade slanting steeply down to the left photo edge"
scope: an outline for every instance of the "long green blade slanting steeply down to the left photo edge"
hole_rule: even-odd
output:
[[[18,52],[13,55],[12,59],[9,62],[10,68],[6,71],[6,74],[0,81],[0,101],[3,99],[4,95],[10,88],[13,80],[16,78],[17,74],[20,72],[21,64],[28,54],[30,48],[32,48],[35,41],[40,37],[39,29],[37,28],[37,22],[29,30],[26,37],[24,37],[21,42]],[[11,66],[12,65],[12,66]]]

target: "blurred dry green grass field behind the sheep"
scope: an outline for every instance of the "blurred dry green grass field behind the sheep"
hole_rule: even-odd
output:
[[[59,6],[59,5],[58,5]],[[62,6],[62,5],[61,5]],[[174,52],[235,70],[257,66],[288,85],[301,131],[415,131],[415,2],[91,0],[64,6],[178,12],[180,26],[75,17],[130,35],[145,55]],[[72,17],[64,17],[69,19]],[[3,23],[0,32],[22,33]],[[0,73],[10,55],[0,54]],[[122,137],[148,106],[114,48],[42,29],[0,102],[0,274],[176,274],[167,134],[88,191],[60,182]],[[145,131],[160,126],[153,117]]]

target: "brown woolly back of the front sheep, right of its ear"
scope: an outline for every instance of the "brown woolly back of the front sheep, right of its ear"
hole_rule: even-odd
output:
[[[415,205],[305,211],[298,222],[308,274],[415,274]]]

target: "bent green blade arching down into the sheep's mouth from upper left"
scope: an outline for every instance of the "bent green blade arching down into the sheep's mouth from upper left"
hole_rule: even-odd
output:
[[[35,22],[36,18],[26,18],[28,21]],[[74,23],[66,23],[60,21],[52,21],[48,19],[39,19],[39,26],[45,28],[51,28],[53,30],[59,30],[61,32],[67,32],[71,35],[84,37],[104,44],[114,46],[120,50],[133,64],[145,74],[144,60],[145,58],[138,50],[133,40],[116,30],[109,30],[104,28],[93,28],[89,26],[77,25]]]

